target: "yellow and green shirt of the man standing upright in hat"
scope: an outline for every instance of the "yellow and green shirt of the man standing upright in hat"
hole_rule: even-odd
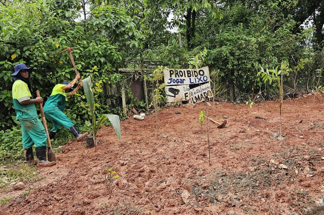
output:
[[[18,119],[35,119],[38,118],[35,104],[20,104],[20,102],[32,99],[28,86],[22,80],[17,80],[12,86],[12,98],[14,108]]]

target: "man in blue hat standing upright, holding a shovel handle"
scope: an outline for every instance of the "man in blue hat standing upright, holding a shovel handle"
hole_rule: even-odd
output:
[[[25,64],[17,64],[15,72],[11,74],[15,82],[12,86],[12,98],[17,114],[17,120],[21,123],[22,146],[25,160],[28,164],[36,164],[33,148],[35,145],[36,157],[40,163],[46,166],[54,165],[55,162],[46,161],[47,134],[45,128],[38,118],[35,104],[43,102],[42,97],[33,99],[27,83],[33,68]]]

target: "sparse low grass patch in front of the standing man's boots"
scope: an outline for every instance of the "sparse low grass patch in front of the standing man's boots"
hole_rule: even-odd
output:
[[[0,171],[0,188],[6,189],[12,182],[30,182],[40,179],[36,166],[21,165],[6,167],[8,170]]]

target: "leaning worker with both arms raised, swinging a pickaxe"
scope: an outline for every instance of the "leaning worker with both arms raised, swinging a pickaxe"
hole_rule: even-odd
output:
[[[78,83],[78,86],[73,89],[73,85],[79,79],[80,75],[78,74],[71,83],[64,81],[62,84],[55,85],[52,90],[52,94],[45,102],[45,117],[53,125],[51,131],[49,132],[50,139],[55,137],[56,132],[61,129],[61,125],[69,130],[69,132],[76,138],[76,141],[81,140],[88,135],[88,132],[81,134],[71,119],[63,113],[67,99],[70,96],[73,96],[80,89],[80,87],[82,87],[82,82],[80,82]]]

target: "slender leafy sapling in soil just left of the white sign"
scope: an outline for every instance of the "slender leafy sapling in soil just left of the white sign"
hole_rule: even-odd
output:
[[[163,100],[165,100],[164,96],[162,95],[162,92],[164,91],[164,88],[166,84],[159,84],[160,81],[163,79],[163,71],[168,70],[167,67],[158,66],[152,73],[152,77],[144,76],[145,80],[148,80],[152,86],[153,86],[153,101],[150,104],[151,106],[154,106],[154,116],[155,116],[155,123],[156,123],[156,138],[158,139],[159,135],[159,124],[158,124],[158,115],[157,111],[159,109],[159,104]]]

